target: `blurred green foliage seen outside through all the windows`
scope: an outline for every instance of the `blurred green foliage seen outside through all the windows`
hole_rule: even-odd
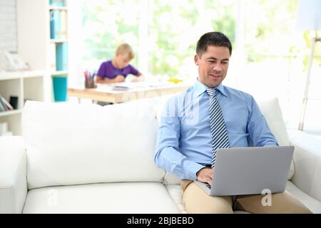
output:
[[[138,48],[148,48],[148,74],[179,76],[183,66],[193,65],[195,45],[207,31],[222,31],[235,48],[236,0],[151,0],[148,12],[143,0],[83,0],[83,31],[86,53],[83,60],[113,58],[116,46],[133,46],[138,64]],[[297,0],[245,0],[245,62],[258,63],[271,56],[295,56],[310,48],[311,34],[297,46],[290,39],[294,31]],[[148,43],[139,38],[139,16],[148,14]],[[316,53],[321,52],[316,46]],[[307,65],[307,56],[303,60]],[[319,59],[317,64],[321,65]]]

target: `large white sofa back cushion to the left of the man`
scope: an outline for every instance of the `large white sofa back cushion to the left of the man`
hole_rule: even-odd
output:
[[[96,182],[161,182],[157,123],[148,102],[78,105],[28,101],[23,113],[29,189]]]

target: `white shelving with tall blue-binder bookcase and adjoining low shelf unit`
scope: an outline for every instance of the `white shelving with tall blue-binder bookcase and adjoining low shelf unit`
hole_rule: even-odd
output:
[[[63,30],[61,36],[51,36],[53,12],[63,14],[63,21],[55,31]],[[8,123],[9,131],[21,135],[25,100],[63,100],[56,100],[54,92],[58,88],[58,92],[64,93],[68,78],[68,4],[67,0],[16,0],[16,14],[17,51],[29,64],[30,71],[0,73],[0,94],[8,101],[10,96],[18,98],[15,110],[0,112],[0,123]],[[64,56],[59,58],[57,50]]]

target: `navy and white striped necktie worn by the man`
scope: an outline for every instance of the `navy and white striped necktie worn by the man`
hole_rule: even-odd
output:
[[[225,127],[222,110],[220,104],[216,100],[215,93],[218,90],[208,88],[206,92],[210,96],[210,103],[208,111],[210,114],[210,133],[212,135],[212,168],[215,166],[216,150],[218,148],[228,148],[230,143],[228,142],[228,132]]]

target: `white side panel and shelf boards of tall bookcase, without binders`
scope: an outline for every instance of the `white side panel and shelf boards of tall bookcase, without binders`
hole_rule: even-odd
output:
[[[17,31],[19,55],[29,63],[32,70],[43,70],[45,101],[53,102],[52,76],[68,76],[68,71],[56,71],[53,62],[56,63],[53,54],[53,46],[60,43],[68,43],[66,38],[51,39],[50,20],[51,11],[59,10],[67,12],[66,26],[68,27],[68,1],[66,6],[51,6],[49,0],[16,0],[17,7]],[[68,31],[68,30],[67,30]]]

